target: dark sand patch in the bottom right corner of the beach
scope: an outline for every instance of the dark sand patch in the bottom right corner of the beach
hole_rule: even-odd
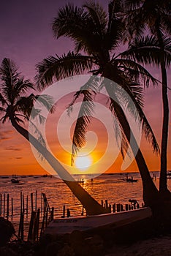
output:
[[[113,246],[106,256],[171,256],[171,236],[150,238],[130,246]]]

